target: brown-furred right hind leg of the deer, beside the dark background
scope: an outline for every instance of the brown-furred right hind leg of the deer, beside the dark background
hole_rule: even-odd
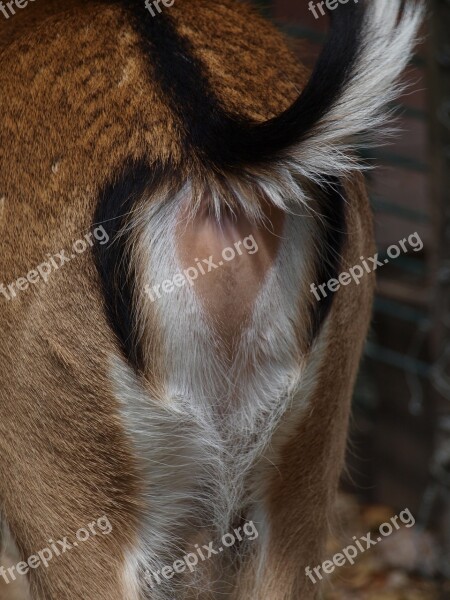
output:
[[[349,214],[348,223],[359,233],[344,251],[346,264],[356,264],[362,253],[369,256],[373,247],[371,235],[364,239],[361,227],[361,222],[370,223],[366,196],[357,190],[349,190],[349,197],[360,205],[360,214]],[[259,544],[240,573],[232,600],[320,597],[327,575],[314,568],[330,558],[324,556],[325,542],[344,465],[352,389],[370,320],[373,283],[367,277],[357,289],[345,288],[336,296],[311,349],[308,383],[293,402],[295,407],[301,398],[305,409],[294,408],[286,415],[261,463]]]

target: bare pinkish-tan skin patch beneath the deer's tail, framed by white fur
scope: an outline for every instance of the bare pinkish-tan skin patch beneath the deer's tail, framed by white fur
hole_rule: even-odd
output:
[[[225,211],[219,223],[205,207],[189,221],[182,214],[177,226],[182,268],[199,263],[205,271],[197,266],[192,287],[229,350],[251,316],[280,245],[284,214],[268,204],[263,211],[264,223]]]

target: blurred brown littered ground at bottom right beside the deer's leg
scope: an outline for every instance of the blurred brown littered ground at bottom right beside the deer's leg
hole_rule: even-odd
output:
[[[353,536],[359,540],[372,532],[371,539],[379,539],[380,525],[396,515],[385,506],[358,506],[348,496],[339,504],[329,558],[355,544]],[[325,586],[325,600],[450,600],[450,581],[437,576],[439,549],[433,536],[417,523],[406,527],[397,522],[399,530],[359,553],[353,565],[336,568]]]

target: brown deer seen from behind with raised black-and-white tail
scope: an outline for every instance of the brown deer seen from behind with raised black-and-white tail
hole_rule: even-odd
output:
[[[0,15],[1,598],[315,600],[374,274],[311,286],[376,251],[357,148],[423,4],[326,2],[312,70],[237,0],[19,4]]]

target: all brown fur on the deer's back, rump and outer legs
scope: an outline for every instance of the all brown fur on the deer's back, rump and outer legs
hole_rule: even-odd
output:
[[[304,86],[306,70],[247,7],[177,0],[167,10],[227,107],[265,119]],[[0,281],[8,284],[90,230],[99,190],[129,156],[176,161],[180,137],[121,10],[37,0],[0,19],[0,147],[7,152],[0,164]],[[349,187],[348,205],[343,264],[350,266],[372,252],[359,180]],[[371,290],[368,276],[336,296],[313,408],[268,474],[271,568],[257,593],[253,567],[244,568],[235,600],[315,597],[303,569],[318,564],[323,548]],[[0,303],[0,509],[22,557],[103,514],[114,528],[32,571],[33,598],[122,600],[120,569],[136,535],[140,482],[107,391],[106,357],[118,349],[90,251],[46,285]]]

